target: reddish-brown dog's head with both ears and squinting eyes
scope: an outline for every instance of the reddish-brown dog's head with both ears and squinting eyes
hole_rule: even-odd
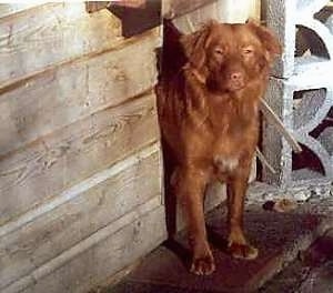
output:
[[[201,30],[183,36],[181,43],[189,62],[215,91],[238,91],[268,74],[281,46],[266,28],[222,24],[211,21]]]

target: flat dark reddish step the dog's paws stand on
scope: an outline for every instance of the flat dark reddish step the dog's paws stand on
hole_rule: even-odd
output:
[[[300,205],[289,213],[265,211],[261,204],[246,209],[249,240],[260,250],[254,261],[234,260],[225,252],[225,209],[220,206],[208,215],[210,242],[216,271],[210,276],[189,273],[190,253],[184,234],[165,243],[147,256],[117,286],[101,293],[250,293],[258,292],[266,281],[281,272],[330,228],[333,228],[333,202],[321,201]],[[269,292],[269,291],[268,291]],[[270,291],[287,292],[287,291]]]

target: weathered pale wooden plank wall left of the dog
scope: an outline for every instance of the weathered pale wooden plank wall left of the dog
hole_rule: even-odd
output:
[[[0,4],[0,292],[87,292],[165,239],[160,36]]]

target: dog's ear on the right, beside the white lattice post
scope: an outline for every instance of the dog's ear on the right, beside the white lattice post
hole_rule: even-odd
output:
[[[246,24],[254,31],[265,49],[265,58],[269,63],[272,63],[274,59],[282,53],[281,44],[276,36],[268,28],[259,24],[256,21],[249,19]]]

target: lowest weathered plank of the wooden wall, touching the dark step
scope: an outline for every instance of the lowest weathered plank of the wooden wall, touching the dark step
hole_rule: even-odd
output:
[[[118,229],[112,224],[99,230],[1,292],[88,292],[165,239],[164,206],[157,199],[118,222]]]

